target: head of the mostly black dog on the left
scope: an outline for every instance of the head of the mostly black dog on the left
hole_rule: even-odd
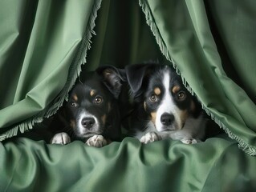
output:
[[[95,134],[107,138],[120,137],[119,110],[120,74],[115,67],[102,67],[87,72],[71,90],[66,117],[75,138],[87,139]]]

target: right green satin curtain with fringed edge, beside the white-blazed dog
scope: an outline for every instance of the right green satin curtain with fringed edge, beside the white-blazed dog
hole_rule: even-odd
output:
[[[243,150],[255,155],[256,2],[141,0],[140,6],[163,54],[177,66],[206,112]],[[210,25],[220,35],[216,42]],[[218,49],[223,57],[234,59],[233,69],[221,60]],[[240,73],[241,86],[234,73]]]

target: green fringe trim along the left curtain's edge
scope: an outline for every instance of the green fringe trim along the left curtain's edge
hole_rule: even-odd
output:
[[[29,118],[28,120],[20,123],[18,126],[14,126],[10,130],[7,130],[5,133],[1,134],[0,142],[6,138],[12,138],[18,135],[19,132],[22,134],[27,130],[33,129],[35,123],[43,122],[43,118],[49,118],[53,114],[56,114],[59,107],[63,105],[64,100],[67,100],[68,92],[75,84],[75,80],[78,78],[81,72],[81,66],[87,62],[87,50],[91,49],[91,37],[93,34],[95,35],[95,31],[93,30],[95,27],[95,18],[97,18],[97,11],[100,9],[101,2],[102,0],[95,0],[92,6],[85,34],[83,35],[79,50],[71,63],[67,82],[63,87],[63,90],[59,93],[55,100],[51,102],[43,111],[39,112],[39,114],[36,114],[32,118]]]

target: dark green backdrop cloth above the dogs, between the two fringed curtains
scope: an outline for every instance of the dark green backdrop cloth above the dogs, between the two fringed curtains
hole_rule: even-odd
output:
[[[95,70],[100,65],[124,68],[148,60],[164,61],[138,2],[103,1],[95,22],[96,36],[91,39],[83,70]]]

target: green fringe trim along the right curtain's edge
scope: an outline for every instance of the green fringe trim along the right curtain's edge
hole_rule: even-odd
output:
[[[177,65],[173,61],[173,58],[169,56],[169,50],[167,49],[167,46],[165,45],[165,42],[162,39],[161,34],[156,26],[155,20],[151,13],[151,9],[148,6],[148,1],[139,0],[139,4],[141,6],[142,11],[145,14],[146,22],[150,27],[150,29],[152,30],[152,34],[155,36],[156,42],[160,47],[162,54],[164,54],[165,58],[169,60],[169,62],[173,63],[173,67],[176,69],[177,74],[181,75],[180,71],[177,69]],[[185,78],[182,75],[181,75],[181,79],[186,89],[189,90],[191,94],[195,95],[192,88],[189,86],[189,83],[186,82]],[[205,110],[206,114],[208,114],[209,117],[211,117],[213,121],[216,122],[218,126],[220,126],[221,129],[226,131],[226,133],[229,135],[230,138],[235,139],[238,142],[238,147],[240,149],[245,151],[246,154],[250,154],[252,156],[256,155],[255,146],[248,145],[244,140],[242,140],[242,138],[239,138],[237,135],[233,134],[218,118],[215,117],[215,115],[209,109],[207,109],[206,106],[204,106],[202,103],[201,103],[201,106],[202,106],[202,109]]]

